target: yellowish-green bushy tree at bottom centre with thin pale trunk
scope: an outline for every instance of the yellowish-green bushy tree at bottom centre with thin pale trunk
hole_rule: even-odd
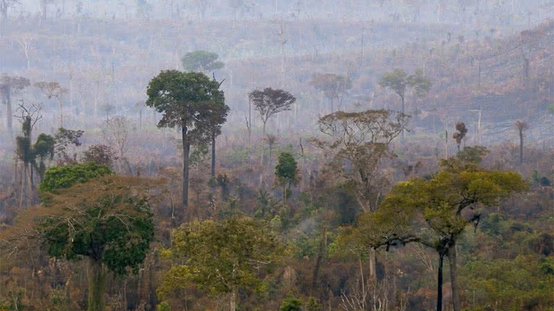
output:
[[[179,264],[172,265],[163,279],[160,296],[196,285],[211,294],[230,294],[231,311],[240,288],[262,286],[262,267],[275,263],[282,249],[269,226],[242,216],[222,223],[195,220],[172,237],[172,247],[164,254]]]

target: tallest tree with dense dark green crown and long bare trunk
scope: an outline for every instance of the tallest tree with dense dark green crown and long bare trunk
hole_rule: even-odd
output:
[[[205,114],[210,103],[224,102],[220,83],[211,80],[204,73],[181,73],[165,70],[150,80],[146,91],[146,105],[163,113],[158,127],[181,128],[183,144],[183,197],[182,204],[188,206],[188,165],[190,145],[197,144],[206,136]]]

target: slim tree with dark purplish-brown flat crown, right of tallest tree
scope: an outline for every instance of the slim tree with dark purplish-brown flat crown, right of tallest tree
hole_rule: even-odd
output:
[[[249,93],[249,99],[258,113],[263,123],[262,135],[265,137],[265,126],[271,115],[282,111],[289,111],[292,104],[296,102],[296,97],[287,91],[273,88],[264,88],[263,90],[254,90]]]

